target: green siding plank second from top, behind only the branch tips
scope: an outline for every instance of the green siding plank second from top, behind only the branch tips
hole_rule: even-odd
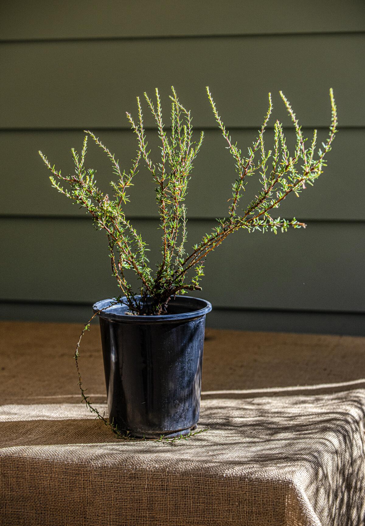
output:
[[[340,125],[364,126],[364,44],[362,34],[3,43],[0,128],[128,127],[135,96],[156,86],[168,115],[171,84],[196,126],[214,126],[207,84],[228,126],[259,126],[269,91],[289,123],[279,89],[302,125],[327,126],[329,87]]]

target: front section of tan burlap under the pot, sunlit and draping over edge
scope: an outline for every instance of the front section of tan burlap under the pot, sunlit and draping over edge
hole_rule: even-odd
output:
[[[84,406],[9,404],[1,524],[360,525],[364,413],[363,390],[207,399],[210,430],[171,446],[116,440]]]

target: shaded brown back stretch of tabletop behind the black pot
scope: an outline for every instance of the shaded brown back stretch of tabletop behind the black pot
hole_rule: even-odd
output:
[[[0,322],[0,401],[79,397],[73,355],[81,330],[76,323]],[[297,386],[298,392],[313,393],[325,392],[326,384],[332,384],[331,392],[347,387],[337,383],[362,387],[364,348],[364,337],[208,328],[202,391],[247,390],[252,397],[268,388],[270,395],[280,395]],[[85,333],[80,367],[89,392],[105,398],[98,325]]]

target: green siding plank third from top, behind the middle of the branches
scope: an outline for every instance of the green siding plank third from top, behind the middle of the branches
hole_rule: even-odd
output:
[[[136,140],[128,131],[95,130],[100,140],[119,158],[120,166],[129,168],[130,159],[135,155]],[[309,135],[310,130],[303,130]],[[266,132],[267,148],[271,147],[273,131]],[[320,136],[326,135],[320,130]],[[293,143],[293,134],[287,131],[289,146]],[[2,215],[45,215],[45,216],[85,216],[64,196],[59,195],[51,186],[38,149],[48,156],[52,164],[63,173],[74,170],[70,148],[80,149],[84,134],[79,132],[0,132],[0,150],[6,152],[0,166],[2,193],[0,210]],[[246,150],[255,137],[251,130],[234,131],[234,140],[238,141],[242,151]],[[90,139],[91,140],[91,139]],[[158,143],[156,133],[148,133],[148,141],[157,160]],[[315,186],[303,191],[300,198],[289,196],[282,203],[277,214],[284,217],[306,219],[343,219],[365,220],[362,188],[365,167],[365,129],[340,130],[333,149],[328,156],[328,167]],[[208,130],[205,141],[195,161],[195,169],[189,183],[186,200],[188,217],[211,218],[227,215],[227,199],[231,195],[231,184],[236,177],[234,162],[225,148],[225,139],[220,131]],[[352,152],[356,151],[356,155]],[[87,166],[97,169],[99,187],[111,193],[108,186],[113,179],[109,161],[103,151],[95,144],[89,144]],[[347,159],[344,163],[343,159]],[[241,199],[242,207],[248,204],[259,190],[259,177],[248,180],[246,193]],[[134,179],[130,189],[130,203],[125,206],[128,217],[157,217],[154,184],[144,168]]]

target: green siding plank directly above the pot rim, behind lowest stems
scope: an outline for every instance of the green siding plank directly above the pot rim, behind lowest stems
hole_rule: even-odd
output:
[[[189,244],[210,225],[190,224]],[[156,221],[135,226],[158,246]],[[1,299],[93,302],[118,294],[106,238],[86,221],[2,219],[0,236]],[[217,307],[363,312],[364,247],[362,224],[309,224],[277,236],[239,231],[210,255],[199,295]]]

